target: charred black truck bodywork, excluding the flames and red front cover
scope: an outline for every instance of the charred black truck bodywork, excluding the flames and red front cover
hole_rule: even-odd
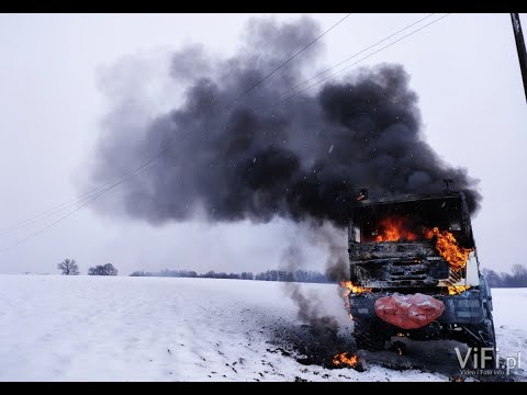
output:
[[[478,255],[467,201],[461,191],[453,191],[452,189],[453,183],[446,183],[446,190],[441,194],[404,195],[380,200],[366,199],[352,204],[348,227],[350,280],[354,284],[368,291],[350,293],[348,297],[350,314],[356,326],[360,323],[359,327],[361,329],[359,329],[358,336],[359,339],[362,339],[361,341],[365,341],[365,336],[369,339],[368,341],[373,341],[374,337],[380,337],[382,340],[391,336],[407,336],[418,340],[456,339],[472,346],[478,345],[478,347],[495,345],[495,339],[490,339],[491,335],[489,334],[491,331],[484,330],[484,328],[492,327],[491,337],[494,337],[491,313],[492,295],[485,279],[479,272]],[[453,219],[460,225],[460,228],[456,230],[456,238],[463,247],[474,249],[467,268],[460,271],[452,270],[436,251],[434,240],[357,241],[358,237],[363,236],[356,233],[356,225],[362,226],[360,224],[360,221],[363,219],[363,217],[360,217],[362,215],[360,213],[361,208],[407,202],[416,202],[416,204],[425,202],[424,204],[426,204],[426,202],[433,200],[439,202],[451,200],[455,202],[451,206],[445,206],[446,212],[436,213],[437,216],[431,215],[428,219],[435,221],[437,217],[442,221],[444,225],[451,224],[453,217],[450,215],[456,212]],[[429,205],[429,207],[433,206],[433,204]],[[439,207],[444,207],[442,203],[439,203]],[[449,207],[455,207],[455,210],[452,208],[452,212],[450,212]],[[377,212],[371,217],[366,216],[366,221],[371,219],[370,224],[374,224],[374,219],[386,212],[390,212],[390,210]],[[411,210],[402,210],[401,212],[412,214]],[[447,214],[447,216],[445,217],[444,214]],[[369,213],[365,215],[369,215]],[[368,226],[367,228],[371,232],[374,226]],[[471,264],[469,266],[469,263]],[[474,270],[476,273],[474,273]],[[461,282],[467,283],[469,271],[472,272],[471,275],[475,274],[473,283],[470,284],[471,287],[460,294],[449,295],[448,286]],[[419,329],[403,330],[377,316],[374,303],[379,297],[416,292],[433,295],[434,298],[445,304],[445,311],[438,319]],[[355,330],[357,331],[357,328]]]

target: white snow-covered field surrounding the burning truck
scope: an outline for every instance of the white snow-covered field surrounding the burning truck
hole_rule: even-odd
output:
[[[351,327],[335,285],[302,289]],[[527,290],[493,295],[500,353],[527,359]],[[365,372],[301,364],[273,341],[301,326],[296,312],[283,283],[0,275],[0,381],[450,380],[368,361]]]

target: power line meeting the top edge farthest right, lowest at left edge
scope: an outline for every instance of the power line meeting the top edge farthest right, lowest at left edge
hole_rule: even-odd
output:
[[[419,29],[416,29],[415,31],[413,31],[413,32],[404,35],[403,37],[401,37],[401,38],[399,38],[399,40],[396,40],[396,41],[394,41],[394,42],[392,42],[392,43],[390,43],[389,45],[383,46],[382,48],[380,48],[380,49],[378,49],[378,50],[369,54],[368,56],[365,56],[363,58],[355,61],[354,64],[351,64],[351,65],[349,65],[349,66],[346,66],[345,68],[343,68],[343,69],[340,69],[340,70],[338,70],[338,71],[336,71],[336,72],[334,72],[334,74],[332,74],[332,75],[329,75],[329,76],[327,76],[327,77],[325,77],[324,79],[322,79],[322,80],[319,80],[319,81],[317,81],[317,82],[315,82],[315,83],[313,83],[313,84],[311,84],[311,86],[309,86],[309,87],[306,87],[306,88],[304,88],[304,89],[302,89],[302,90],[300,90],[300,91],[298,91],[298,92],[295,92],[295,93],[293,93],[293,94],[291,94],[291,95],[289,95],[289,97],[287,97],[287,98],[284,98],[284,99],[281,99],[281,100],[277,101],[276,104],[278,104],[278,103],[282,102],[282,101],[289,100],[289,99],[291,99],[291,98],[293,98],[293,97],[295,97],[295,95],[298,95],[298,94],[300,94],[300,93],[302,93],[302,92],[304,92],[304,91],[306,91],[306,90],[309,90],[309,89],[311,89],[311,88],[313,88],[313,87],[322,83],[323,81],[327,80],[328,78],[330,78],[330,77],[333,77],[333,76],[335,76],[335,75],[337,75],[337,74],[339,74],[339,72],[343,72],[344,70],[350,68],[351,66],[357,65],[358,63],[360,63],[360,61],[362,61],[362,60],[365,60],[365,59],[367,59],[367,58],[369,58],[369,57],[371,57],[371,56],[380,53],[381,50],[384,50],[385,48],[388,48],[388,47],[390,47],[390,46],[399,43],[400,41],[402,41],[402,40],[404,40],[404,38],[413,35],[413,34],[422,31],[423,29],[425,29],[425,27],[427,27],[427,26],[429,26],[429,25],[431,25],[431,24],[434,24],[434,23],[436,23],[436,22],[438,22],[438,21],[440,21],[440,20],[442,20],[442,19],[445,19],[445,18],[447,18],[447,16],[449,16],[449,15],[450,15],[450,13],[448,13],[448,14],[446,14],[446,15],[444,15],[444,16],[440,16],[440,18],[434,20],[433,22],[430,22],[430,23],[428,23],[428,24],[426,24],[426,25],[423,25],[423,26],[419,27]],[[428,18],[428,16],[427,16],[427,18]],[[425,19],[426,19],[426,18],[425,18]],[[423,19],[423,20],[424,20],[424,19]],[[415,22],[414,25],[415,25],[416,23],[418,23],[418,22]],[[333,27],[334,27],[334,26],[332,26],[332,29],[333,29]],[[402,31],[404,31],[404,30],[406,30],[406,29],[403,29]],[[400,32],[402,32],[402,31],[400,31]],[[391,36],[393,36],[393,35],[395,35],[395,34],[392,34]],[[388,38],[385,38],[385,40],[388,40]],[[383,41],[385,41],[385,40],[383,40]],[[381,41],[381,42],[383,42],[383,41]],[[379,43],[381,43],[381,42],[379,42]],[[378,43],[378,44],[379,44],[379,43]],[[294,56],[295,56],[295,55],[294,55]],[[355,55],[355,56],[356,56],[356,55]],[[352,56],[352,57],[354,57],[354,56]],[[352,58],[352,57],[350,57],[350,58]],[[289,61],[289,60],[288,60],[288,61]],[[327,71],[327,70],[326,70],[326,71]],[[272,74],[271,74],[271,75],[272,75]],[[313,78],[312,78],[312,79],[313,79]],[[243,93],[242,97],[245,95],[245,94],[247,94],[247,93],[248,93],[248,91],[246,91],[245,93]],[[281,97],[281,95],[280,95],[280,97]],[[234,102],[236,102],[236,100],[235,100]],[[234,102],[233,102],[233,103],[234,103]],[[88,204],[90,204],[90,203],[93,202],[94,200],[99,199],[100,196],[102,196],[102,195],[105,194],[106,192],[111,191],[113,188],[115,188],[115,187],[120,185],[121,183],[130,180],[131,178],[133,178],[134,176],[136,176],[139,170],[144,169],[146,166],[148,166],[148,165],[150,165],[152,162],[154,162],[155,160],[157,160],[157,159],[158,159],[159,157],[161,157],[165,153],[167,153],[170,148],[172,148],[177,143],[179,143],[181,139],[188,137],[190,134],[192,134],[192,133],[187,133],[187,134],[182,135],[181,138],[173,140],[171,144],[169,144],[166,148],[164,148],[164,149],[162,149],[159,154],[157,154],[155,157],[148,159],[145,163],[143,163],[142,166],[139,166],[138,168],[136,168],[136,169],[135,169],[132,173],[130,173],[128,176],[124,176],[123,179],[116,181],[115,183],[113,183],[113,184],[110,185],[109,188],[106,188],[106,189],[102,190],[101,192],[97,193],[92,199],[90,199],[90,200],[89,200],[88,202],[86,202],[85,204],[80,205],[80,206],[77,207],[76,210],[74,210],[74,211],[71,211],[70,213],[64,215],[63,217],[58,218],[57,221],[55,221],[54,223],[47,225],[46,227],[40,229],[38,232],[30,235],[29,237],[26,237],[26,238],[24,238],[24,239],[22,239],[22,240],[19,240],[19,241],[16,241],[15,244],[5,247],[4,249],[1,249],[1,250],[0,250],[0,253],[7,251],[8,249],[11,249],[12,247],[14,247],[14,246],[16,246],[16,245],[20,245],[20,244],[22,244],[22,242],[24,242],[24,241],[26,241],[26,240],[29,240],[29,239],[37,236],[38,234],[41,234],[41,233],[43,233],[43,232],[45,232],[45,230],[47,230],[47,229],[51,228],[52,226],[54,226],[54,225],[58,224],[59,222],[66,219],[67,217],[69,217],[70,215],[75,214],[76,212],[78,212],[78,211],[81,210],[82,207],[87,206]],[[145,169],[145,171],[146,171],[146,170],[147,170],[147,169]],[[100,188],[100,187],[99,187],[99,188]],[[97,189],[99,189],[99,188],[97,188]],[[97,190],[97,189],[94,189],[94,190]],[[94,191],[94,190],[93,190],[93,191]]]

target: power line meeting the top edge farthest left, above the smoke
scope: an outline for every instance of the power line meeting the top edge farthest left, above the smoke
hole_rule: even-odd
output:
[[[324,31],[321,35],[318,35],[316,38],[314,38],[313,41],[311,41],[310,43],[307,43],[306,45],[304,45],[300,50],[298,50],[294,55],[292,55],[291,57],[289,57],[285,61],[283,61],[281,65],[279,65],[277,68],[274,68],[271,72],[269,72],[267,76],[265,76],[262,79],[260,79],[258,82],[256,82],[254,86],[251,86],[248,90],[246,90],[245,92],[243,92],[242,94],[239,94],[238,97],[236,97],[233,101],[231,101],[227,105],[225,105],[223,109],[222,109],[222,112],[227,110],[231,105],[233,105],[234,103],[236,103],[238,100],[240,100],[242,98],[246,97],[249,92],[251,92],[255,88],[257,88],[260,83],[262,83],[265,80],[267,80],[268,78],[270,78],[272,75],[274,75],[278,70],[280,70],[282,67],[284,67],[285,65],[288,65],[290,61],[292,61],[296,56],[299,56],[300,54],[302,54],[304,50],[306,50],[309,47],[311,47],[313,44],[315,44],[317,41],[319,41],[323,36],[325,36],[327,33],[329,33],[333,29],[335,29],[337,25],[339,25],[341,22],[344,22],[348,16],[350,16],[351,14],[348,13],[346,16],[344,16],[343,19],[340,19],[338,22],[336,22],[334,25],[332,25],[329,29],[327,29],[326,31]],[[172,144],[170,144],[167,149],[164,149],[160,154],[156,155],[153,159],[149,159],[146,163],[144,163],[145,166],[148,165],[149,162],[152,162],[153,160],[156,160],[157,158],[159,158],[161,155],[164,155],[167,150],[169,150],[171,147],[173,147],[176,145],[176,143],[178,143],[178,140],[175,140],[172,142]],[[132,173],[134,173],[135,171],[137,170],[141,170],[144,166],[139,166],[138,168],[132,170]],[[4,228],[4,229],[0,229],[0,236],[4,236],[7,234],[10,234],[12,232],[15,232],[18,229],[21,229],[21,228],[24,228],[31,224],[34,224],[35,222],[38,222],[43,218],[47,218],[49,216],[53,216],[55,214],[58,214],[59,212],[61,211],[65,211],[67,208],[69,208],[70,206],[74,206],[78,203],[81,203],[83,200],[86,199],[89,199],[89,195],[91,195],[92,193],[99,191],[99,190],[102,190],[105,185],[109,185],[109,184],[113,184],[114,182],[119,182],[121,179],[123,178],[126,178],[131,172],[126,172],[124,173],[123,176],[120,176],[113,180],[110,180],[110,181],[106,181],[98,187],[96,187],[94,189],[86,192],[86,193],[82,193],[76,198],[74,198],[72,200],[70,201],[67,201],[67,202],[64,202],[53,208],[49,208],[45,212],[42,212],[37,215],[35,215],[34,217],[31,217],[31,218],[27,218],[25,221],[22,221],[20,223],[16,223],[8,228]],[[80,201],[79,201],[80,199]]]

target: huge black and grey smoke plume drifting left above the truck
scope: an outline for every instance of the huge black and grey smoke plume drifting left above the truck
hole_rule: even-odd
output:
[[[119,177],[177,140],[152,169],[115,191],[114,203],[128,216],[154,224],[199,213],[214,222],[280,216],[341,227],[360,188],[370,196],[433,192],[445,178],[455,179],[476,211],[476,180],[445,163],[424,140],[417,94],[401,65],[357,69],[279,101],[316,71],[317,44],[226,108],[318,34],[310,19],[259,19],[227,59],[200,46],[178,52],[170,83],[184,93],[142,125],[131,121],[134,93],[112,92],[114,111],[103,124],[93,181]]]

